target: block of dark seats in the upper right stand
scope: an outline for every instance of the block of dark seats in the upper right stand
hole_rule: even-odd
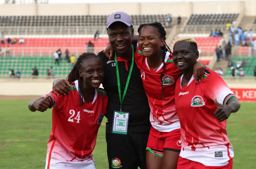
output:
[[[237,19],[239,14],[192,14],[187,25],[226,24]]]

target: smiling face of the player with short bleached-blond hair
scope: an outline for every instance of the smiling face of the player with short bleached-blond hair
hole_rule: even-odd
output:
[[[191,71],[199,57],[198,50],[191,48],[189,42],[180,41],[173,48],[173,61],[180,71]]]

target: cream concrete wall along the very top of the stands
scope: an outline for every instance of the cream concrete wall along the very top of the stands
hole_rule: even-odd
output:
[[[112,3],[112,4],[0,4],[1,16],[22,15],[109,15],[124,11],[129,15],[172,14],[188,17],[191,14],[240,13],[256,16],[256,1],[237,2],[180,2],[180,3]]]

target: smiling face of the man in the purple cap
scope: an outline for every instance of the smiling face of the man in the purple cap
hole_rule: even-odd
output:
[[[123,22],[114,22],[108,28],[109,42],[119,56],[131,47],[133,33],[133,28]]]

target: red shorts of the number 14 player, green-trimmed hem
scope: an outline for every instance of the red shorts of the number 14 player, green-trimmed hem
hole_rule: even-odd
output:
[[[171,132],[162,132],[157,131],[151,126],[146,150],[156,156],[163,157],[164,150],[180,152],[180,149],[180,129]]]

